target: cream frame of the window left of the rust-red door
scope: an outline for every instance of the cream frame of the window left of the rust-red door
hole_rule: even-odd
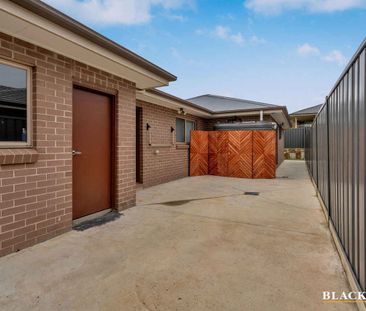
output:
[[[32,115],[32,68],[12,61],[0,59],[0,64],[23,69],[27,75],[27,141],[0,141],[0,148],[29,148],[32,147],[33,115]]]

